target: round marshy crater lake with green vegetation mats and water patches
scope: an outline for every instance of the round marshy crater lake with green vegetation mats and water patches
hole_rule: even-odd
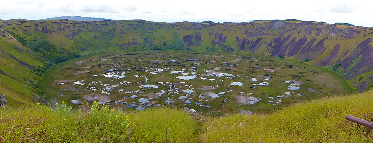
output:
[[[175,61],[176,60],[176,61]],[[206,115],[271,112],[352,93],[332,72],[302,62],[223,52],[105,53],[55,65],[39,82],[50,105],[85,100],[142,110],[170,105]]]

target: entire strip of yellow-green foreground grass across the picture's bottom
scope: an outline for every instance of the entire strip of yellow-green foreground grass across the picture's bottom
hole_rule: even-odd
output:
[[[3,142],[373,142],[372,129],[344,119],[349,114],[373,121],[372,93],[312,100],[270,115],[203,117],[208,120],[204,124],[198,124],[184,111],[168,108],[68,113],[40,107],[11,107],[0,111],[0,139]],[[129,115],[128,128],[120,127],[125,115]],[[113,122],[110,124],[109,120]]]

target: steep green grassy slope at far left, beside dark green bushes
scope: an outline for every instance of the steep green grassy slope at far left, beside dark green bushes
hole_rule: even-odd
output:
[[[34,87],[32,84],[37,83],[38,77],[10,55],[31,67],[41,65],[37,58],[38,53],[32,52],[31,49],[23,46],[5,32],[4,37],[0,37],[0,71],[6,74],[0,74],[0,94],[6,94],[8,104],[35,103],[37,98],[33,95],[38,96],[35,94],[37,91],[32,88]],[[31,102],[32,100],[34,102]]]

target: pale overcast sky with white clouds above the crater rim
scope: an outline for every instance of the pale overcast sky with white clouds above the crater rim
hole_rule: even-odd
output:
[[[0,19],[84,16],[158,22],[299,19],[373,27],[371,0],[1,0]]]

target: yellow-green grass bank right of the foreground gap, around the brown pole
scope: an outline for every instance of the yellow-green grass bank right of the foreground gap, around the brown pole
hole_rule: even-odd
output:
[[[373,129],[345,120],[372,122],[373,91],[317,99],[270,115],[231,115],[205,125],[203,142],[373,142]]]

